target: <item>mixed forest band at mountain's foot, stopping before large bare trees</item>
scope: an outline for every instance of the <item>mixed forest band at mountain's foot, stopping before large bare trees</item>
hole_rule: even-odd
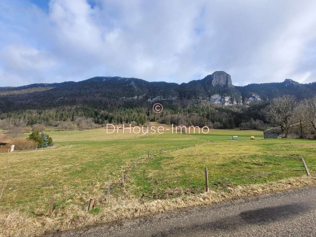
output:
[[[164,101],[163,105],[164,109],[160,114],[154,113],[151,107],[134,107],[129,104],[117,107],[86,104],[51,109],[20,110],[1,114],[0,128],[49,125],[59,129],[72,130],[91,129],[108,123],[145,125],[148,121],[168,125],[209,126],[216,129],[235,127],[263,129],[266,127],[264,117],[260,113],[266,102],[241,108],[214,106],[202,100],[185,105]],[[255,121],[256,125],[253,125],[252,121]]]

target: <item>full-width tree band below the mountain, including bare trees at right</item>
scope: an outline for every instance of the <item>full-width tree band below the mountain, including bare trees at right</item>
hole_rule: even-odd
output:
[[[270,102],[252,106],[214,106],[206,101],[192,104],[174,104],[164,101],[163,112],[156,114],[151,108],[132,104],[63,106],[51,109],[20,110],[0,115],[0,128],[29,127],[42,131],[41,126],[56,126],[61,130],[92,129],[111,124],[145,125],[149,121],[184,126],[208,126],[215,129],[265,130],[268,126],[279,127],[285,137],[298,134],[301,138],[316,138],[316,97],[297,100],[284,95]],[[15,130],[12,130],[14,133]]]

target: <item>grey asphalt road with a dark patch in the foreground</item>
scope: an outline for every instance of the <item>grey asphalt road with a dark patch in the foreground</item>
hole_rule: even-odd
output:
[[[51,236],[316,236],[316,188],[284,191]]]

